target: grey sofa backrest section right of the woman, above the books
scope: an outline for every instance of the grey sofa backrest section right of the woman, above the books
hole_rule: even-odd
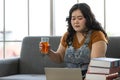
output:
[[[109,37],[106,56],[120,58],[120,37]]]

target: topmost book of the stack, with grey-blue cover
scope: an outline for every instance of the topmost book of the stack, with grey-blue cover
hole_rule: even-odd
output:
[[[120,59],[108,57],[92,58],[89,65],[98,67],[118,67],[120,66]]]

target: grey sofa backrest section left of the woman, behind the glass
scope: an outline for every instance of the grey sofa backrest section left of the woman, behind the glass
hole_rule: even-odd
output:
[[[49,36],[53,50],[57,50],[60,36]],[[39,51],[41,36],[25,37],[22,42],[20,56],[20,73],[44,74],[45,67],[64,67],[65,65],[52,62],[47,55]]]

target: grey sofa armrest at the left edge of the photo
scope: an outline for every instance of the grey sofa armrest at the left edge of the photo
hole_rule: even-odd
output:
[[[19,59],[10,58],[0,60],[0,77],[17,74],[19,72]]]

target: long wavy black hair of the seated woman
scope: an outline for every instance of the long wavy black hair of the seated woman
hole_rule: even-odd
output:
[[[87,5],[86,3],[77,3],[72,6],[72,8],[69,11],[68,18],[66,18],[66,21],[68,23],[68,28],[67,28],[68,36],[67,36],[66,42],[68,45],[70,42],[71,43],[73,42],[73,37],[74,37],[74,34],[76,33],[76,31],[73,29],[73,27],[71,25],[71,16],[72,16],[72,12],[77,9],[79,9],[82,12],[84,18],[86,19],[85,25],[87,27],[87,32],[89,30],[100,30],[107,37],[107,33],[104,31],[101,24],[95,19],[95,16],[92,13],[89,5]]]

